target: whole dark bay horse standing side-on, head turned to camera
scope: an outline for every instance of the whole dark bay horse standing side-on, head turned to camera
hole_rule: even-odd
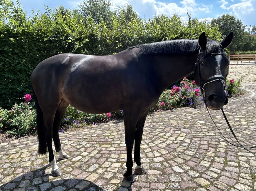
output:
[[[140,144],[149,109],[168,86],[194,72],[209,108],[220,109],[227,104],[224,86],[229,60],[224,48],[232,39],[232,32],[221,43],[202,33],[198,40],[145,44],[109,56],[60,54],[38,64],[31,77],[38,151],[46,154],[48,148],[52,175],[61,174],[53,155],[52,139],[60,159],[69,157],[61,149],[58,135],[69,104],[87,113],[123,110],[127,151],[124,179],[135,181],[133,144],[135,172],[146,173],[141,164]]]

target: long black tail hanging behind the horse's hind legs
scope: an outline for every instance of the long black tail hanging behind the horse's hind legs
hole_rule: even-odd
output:
[[[47,153],[47,144],[44,137],[44,122],[43,122],[43,111],[38,103],[34,89],[32,88],[35,108],[36,108],[36,127],[37,127],[37,138],[38,138],[38,153],[43,155]]]

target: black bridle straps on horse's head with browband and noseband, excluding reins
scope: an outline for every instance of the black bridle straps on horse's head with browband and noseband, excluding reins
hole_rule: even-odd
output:
[[[201,91],[202,91],[202,94],[203,94],[203,98],[205,100],[205,90],[204,90],[205,85],[207,85],[211,82],[214,82],[214,81],[221,81],[222,84],[223,84],[223,87],[225,88],[226,78],[224,78],[222,75],[214,75],[214,76],[211,76],[210,78],[206,79],[205,81],[203,81],[201,71],[200,71],[200,60],[199,60],[199,55],[202,54],[202,53],[203,52],[199,51],[198,58],[197,58],[197,63],[196,63],[196,68],[198,68],[200,88],[201,88]],[[226,52],[209,53],[209,54],[222,55],[222,54],[226,54]]]

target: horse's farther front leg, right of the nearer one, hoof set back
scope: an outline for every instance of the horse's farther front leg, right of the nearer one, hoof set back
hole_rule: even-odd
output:
[[[135,167],[136,174],[146,174],[147,170],[142,167],[141,158],[140,158],[140,144],[142,140],[143,127],[145,120],[147,118],[149,110],[142,111],[140,114],[140,118],[136,125],[136,131],[134,135],[134,161],[137,166]]]

